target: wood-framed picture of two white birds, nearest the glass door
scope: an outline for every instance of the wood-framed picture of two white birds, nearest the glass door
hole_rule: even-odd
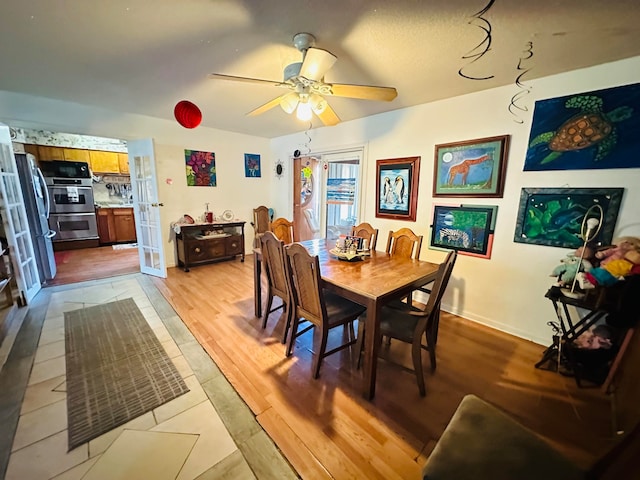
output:
[[[376,217],[416,221],[420,157],[376,161]]]

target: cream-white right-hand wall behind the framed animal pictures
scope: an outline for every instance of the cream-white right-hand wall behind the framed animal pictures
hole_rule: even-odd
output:
[[[515,72],[514,72],[515,73]],[[640,81],[640,57],[601,65],[536,81],[527,81],[531,94],[521,100],[529,111],[524,124],[517,124],[508,112],[511,97],[519,90],[508,86],[462,97],[397,110],[362,120],[320,128],[310,134],[275,138],[274,159],[291,167],[291,155],[303,152],[339,150],[365,145],[364,164],[367,199],[362,221],[380,229],[379,245],[386,244],[389,230],[409,227],[425,236],[421,258],[440,262],[444,253],[427,248],[430,234],[434,147],[462,140],[511,135],[504,198],[436,199],[435,203],[498,205],[493,254],[490,260],[460,255],[453,271],[444,308],[517,336],[548,344],[554,320],[551,303],[544,294],[553,284],[550,272],[570,250],[515,243],[513,241],[522,187],[624,187],[623,202],[615,236],[640,236],[637,205],[640,204],[640,169],[572,170],[523,172],[534,101],[572,93],[636,83]],[[640,153],[640,152],[639,152]],[[375,216],[376,160],[421,156],[416,222],[394,221]],[[290,179],[289,179],[290,181]],[[271,206],[291,217],[289,183],[272,190]],[[285,194],[286,193],[286,194]]]

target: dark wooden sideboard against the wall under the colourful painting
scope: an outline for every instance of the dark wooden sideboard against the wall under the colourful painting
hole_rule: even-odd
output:
[[[178,266],[189,267],[240,256],[244,262],[244,224],[217,222],[180,225],[176,230]]]

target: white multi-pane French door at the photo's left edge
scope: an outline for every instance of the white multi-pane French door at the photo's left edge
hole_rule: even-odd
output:
[[[20,303],[29,303],[40,291],[40,275],[33,251],[29,221],[22,198],[9,127],[0,125],[0,216],[13,260]],[[2,245],[2,248],[7,247]]]

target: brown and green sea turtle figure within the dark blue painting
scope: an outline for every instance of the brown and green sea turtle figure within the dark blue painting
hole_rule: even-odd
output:
[[[604,159],[616,146],[616,124],[631,118],[633,108],[620,106],[605,112],[604,101],[596,95],[579,95],[569,98],[565,107],[579,109],[579,113],[566,120],[556,131],[537,135],[529,148],[546,145],[551,152],[541,165],[557,160],[564,152],[594,148],[593,161]]]

